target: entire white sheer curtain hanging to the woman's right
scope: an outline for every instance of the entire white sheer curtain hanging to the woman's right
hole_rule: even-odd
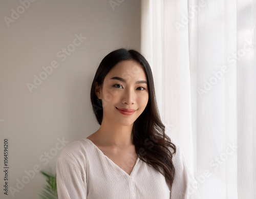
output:
[[[253,0],[141,1],[141,52],[161,119],[201,198],[256,198],[255,8]]]

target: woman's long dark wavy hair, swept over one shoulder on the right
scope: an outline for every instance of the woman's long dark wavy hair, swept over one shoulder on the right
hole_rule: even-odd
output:
[[[97,102],[95,82],[98,82],[98,85],[101,86],[110,70],[117,63],[124,60],[137,61],[144,69],[147,77],[148,102],[142,114],[134,122],[131,135],[137,156],[140,160],[158,170],[165,177],[166,183],[171,190],[175,175],[172,159],[176,153],[176,146],[165,135],[165,126],[160,119],[157,108],[150,64],[139,52],[122,48],[112,51],[102,59],[91,87],[91,102],[94,114],[101,125],[103,108],[102,101],[99,100],[99,103]]]

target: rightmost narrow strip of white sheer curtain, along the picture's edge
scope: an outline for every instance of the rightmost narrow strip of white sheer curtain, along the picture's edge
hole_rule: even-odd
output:
[[[256,2],[238,1],[238,196],[256,198]]]

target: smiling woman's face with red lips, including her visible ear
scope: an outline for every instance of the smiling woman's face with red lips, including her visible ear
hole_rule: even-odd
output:
[[[96,82],[95,93],[102,100],[103,120],[131,125],[148,102],[146,74],[138,62],[121,61],[105,76],[101,90]]]

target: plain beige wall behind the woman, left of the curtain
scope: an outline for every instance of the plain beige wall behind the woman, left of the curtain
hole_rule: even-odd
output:
[[[13,198],[10,187],[17,191],[14,198],[39,198],[45,179],[31,169],[55,172],[66,145],[59,140],[70,143],[99,128],[90,103],[99,62],[120,47],[140,50],[140,1],[113,1],[120,2],[113,9],[109,0],[1,2],[0,160],[8,138],[9,192],[5,196],[1,188],[0,198]],[[51,74],[44,76],[42,67]],[[34,75],[45,78],[37,87]],[[27,184],[17,186],[17,180]]]

